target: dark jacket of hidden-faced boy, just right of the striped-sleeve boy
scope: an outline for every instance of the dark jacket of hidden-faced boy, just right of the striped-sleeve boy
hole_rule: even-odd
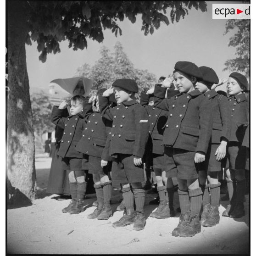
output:
[[[169,90],[168,90],[169,91]],[[178,94],[177,90],[173,90],[173,94]],[[170,95],[170,94],[169,94]],[[150,136],[149,141],[147,143],[147,147],[152,145],[151,150],[154,154],[163,155],[164,153],[164,146],[162,145],[163,142],[163,133],[165,129],[165,124],[168,118],[168,111],[161,110],[157,108],[155,105],[149,106],[149,98],[150,95],[145,94],[144,92],[140,95],[140,104],[144,106],[149,118],[149,126],[150,126]]]

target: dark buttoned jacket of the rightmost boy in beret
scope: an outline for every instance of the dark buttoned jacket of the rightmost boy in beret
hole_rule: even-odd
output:
[[[231,110],[231,135],[229,141],[243,142],[247,127],[248,103],[244,93],[228,98]]]

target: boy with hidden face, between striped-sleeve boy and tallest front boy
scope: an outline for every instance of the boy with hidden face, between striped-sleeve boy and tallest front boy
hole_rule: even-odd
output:
[[[158,83],[161,86],[161,83]],[[173,86],[174,87],[174,86]],[[167,98],[177,95],[178,90],[167,90]],[[154,88],[140,95],[140,104],[145,107],[149,117],[149,141],[152,145],[153,170],[156,174],[157,191],[160,204],[150,217],[164,219],[175,216],[173,209],[174,186],[172,178],[166,177],[164,169],[163,133],[168,118],[168,111],[161,110],[154,105]]]

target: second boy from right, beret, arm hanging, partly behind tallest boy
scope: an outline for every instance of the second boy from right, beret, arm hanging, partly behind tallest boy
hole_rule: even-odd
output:
[[[199,182],[203,191],[203,211],[200,223],[204,227],[212,227],[218,224],[220,220],[218,207],[221,184],[218,181],[218,172],[221,171],[221,163],[226,156],[231,130],[231,112],[227,97],[219,95],[214,89],[211,89],[214,83],[219,83],[214,70],[205,66],[199,67],[199,70],[202,73],[202,81],[196,83],[195,89],[199,89],[210,100],[213,120],[206,161],[199,165]]]

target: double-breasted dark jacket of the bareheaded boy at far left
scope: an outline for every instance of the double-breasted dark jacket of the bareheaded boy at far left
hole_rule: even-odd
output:
[[[85,128],[83,115],[63,117],[63,110],[54,106],[51,112],[51,122],[64,129],[58,155],[64,157],[83,158],[83,154],[76,150],[76,145],[82,137]]]

